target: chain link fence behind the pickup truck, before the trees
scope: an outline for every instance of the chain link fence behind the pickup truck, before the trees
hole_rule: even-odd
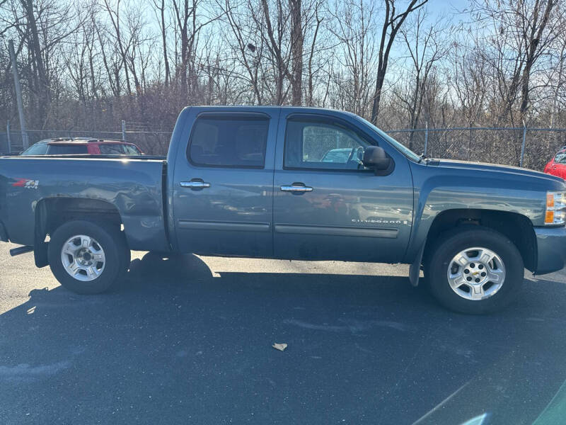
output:
[[[28,130],[28,145],[52,137],[117,139],[135,143],[144,153],[165,155],[171,132],[149,131],[122,122],[121,131]],[[417,154],[428,157],[461,159],[524,166],[542,170],[563,146],[566,128],[420,128],[389,130],[388,134]],[[19,130],[0,133],[0,153],[23,150]]]

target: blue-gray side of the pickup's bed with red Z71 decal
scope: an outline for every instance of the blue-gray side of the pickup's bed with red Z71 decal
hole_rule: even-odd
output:
[[[168,249],[165,157],[61,155],[0,157],[0,222],[11,242],[34,244],[40,203],[98,200],[115,208],[131,249]]]

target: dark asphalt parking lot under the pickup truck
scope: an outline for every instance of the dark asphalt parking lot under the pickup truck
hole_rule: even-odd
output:
[[[9,247],[0,424],[566,417],[564,273],[529,277],[515,305],[475,317],[411,288],[406,266],[133,253],[115,290],[81,296]]]

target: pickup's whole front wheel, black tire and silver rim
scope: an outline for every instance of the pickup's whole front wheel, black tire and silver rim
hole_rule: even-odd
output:
[[[450,310],[494,312],[518,295],[524,264],[516,246],[493,229],[466,227],[441,234],[424,263],[432,295]]]

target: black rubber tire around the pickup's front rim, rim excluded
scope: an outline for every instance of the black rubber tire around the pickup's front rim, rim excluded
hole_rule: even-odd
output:
[[[458,295],[449,283],[451,260],[461,251],[473,247],[490,249],[504,264],[505,278],[501,287],[483,300],[468,300]],[[441,305],[450,310],[467,314],[502,310],[516,298],[523,285],[525,270],[521,253],[509,238],[493,229],[480,226],[452,229],[438,237],[429,253],[424,263],[427,288]],[[488,288],[487,285],[485,288]]]

